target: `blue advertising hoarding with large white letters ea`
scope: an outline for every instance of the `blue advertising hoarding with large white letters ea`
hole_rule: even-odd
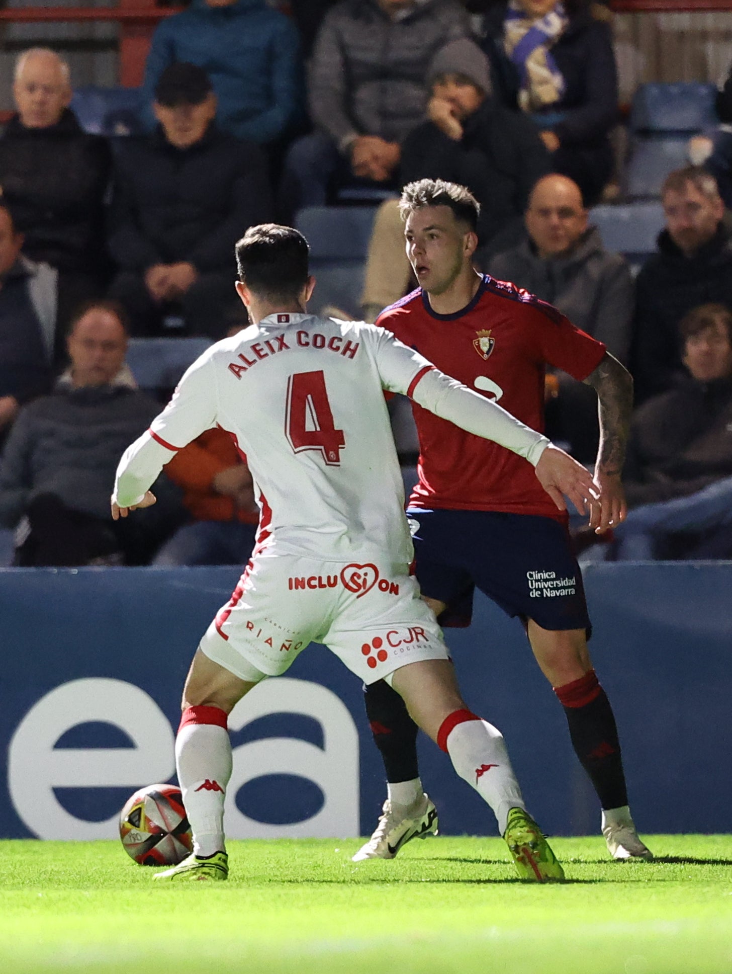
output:
[[[0,571],[0,837],[111,838],[137,787],[174,776],[180,693],[236,568]],[[732,831],[732,564],[598,565],[591,649],[613,702],[643,832]],[[446,630],[468,705],[503,731],[531,810],[597,833],[597,801],[521,625],[476,597]],[[232,714],[233,838],[368,834],[384,775],[359,681],[320,646]],[[450,761],[421,740],[447,834],[494,834]]]

